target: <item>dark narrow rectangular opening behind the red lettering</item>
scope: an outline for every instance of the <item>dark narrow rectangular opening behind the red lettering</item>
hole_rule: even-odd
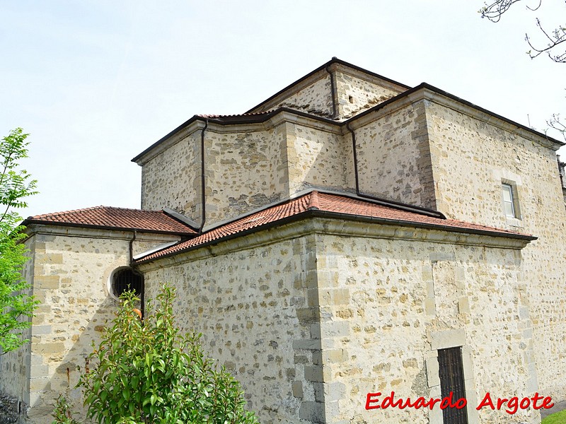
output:
[[[462,348],[439,349],[438,366],[442,397],[449,397],[450,392],[452,392],[452,399],[454,402],[458,401],[458,399],[466,399]],[[466,411],[466,407],[461,409],[443,409],[442,423],[468,424],[468,412]]]

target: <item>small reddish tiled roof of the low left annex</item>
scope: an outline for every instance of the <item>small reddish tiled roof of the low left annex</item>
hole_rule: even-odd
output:
[[[196,234],[195,230],[192,230],[188,225],[172,218],[163,211],[142,211],[140,209],[112,208],[110,206],[96,206],[94,208],[30,216],[23,221],[23,225],[30,224],[139,230],[178,235]]]

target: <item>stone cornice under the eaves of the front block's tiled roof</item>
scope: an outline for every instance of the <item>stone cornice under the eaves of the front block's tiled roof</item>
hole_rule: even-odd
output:
[[[141,272],[154,271],[311,234],[434,242],[499,249],[522,249],[530,241],[528,236],[509,235],[509,237],[506,237],[490,234],[487,231],[478,233],[471,230],[466,232],[463,229],[456,231],[454,228],[424,228],[407,223],[400,223],[399,225],[381,223],[376,219],[364,217],[352,217],[352,219],[345,220],[327,218],[323,215],[318,211],[308,211],[308,213],[296,216],[291,222],[282,225],[243,232],[236,237],[214,240],[168,257],[154,259],[146,263],[141,262],[138,264],[139,270]],[[372,223],[373,225],[371,225]]]

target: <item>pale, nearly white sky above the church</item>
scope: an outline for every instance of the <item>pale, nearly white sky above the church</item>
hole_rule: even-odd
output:
[[[565,111],[566,64],[529,59],[524,34],[540,40],[537,16],[564,23],[566,4],[526,4],[495,24],[476,0],[0,0],[0,135],[31,134],[23,166],[40,189],[21,215],[139,208],[135,155],[333,56],[542,130]]]

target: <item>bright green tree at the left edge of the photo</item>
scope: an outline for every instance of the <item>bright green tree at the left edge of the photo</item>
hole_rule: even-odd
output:
[[[21,240],[21,217],[13,208],[25,208],[25,198],[36,194],[37,182],[19,161],[28,157],[29,134],[16,128],[0,141],[0,355],[13,351],[28,340],[23,331],[31,325],[37,302],[26,294],[29,285],[21,271],[27,257]]]

